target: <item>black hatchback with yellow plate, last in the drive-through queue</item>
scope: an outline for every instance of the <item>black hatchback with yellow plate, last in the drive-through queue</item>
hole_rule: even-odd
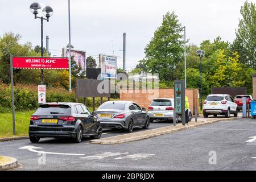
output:
[[[88,108],[80,103],[54,102],[42,104],[31,115],[29,136],[32,143],[40,138],[73,138],[79,143],[82,137],[100,138],[102,127]]]

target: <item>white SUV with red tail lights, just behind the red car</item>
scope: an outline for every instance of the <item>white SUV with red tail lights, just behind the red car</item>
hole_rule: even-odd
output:
[[[229,94],[209,94],[204,101],[203,113],[204,118],[207,118],[208,115],[217,117],[218,114],[229,118],[230,114],[237,117],[238,109],[237,104]]]

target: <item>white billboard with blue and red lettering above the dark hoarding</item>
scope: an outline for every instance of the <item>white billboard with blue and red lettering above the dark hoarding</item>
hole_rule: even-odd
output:
[[[117,78],[117,56],[100,55],[101,78]]]

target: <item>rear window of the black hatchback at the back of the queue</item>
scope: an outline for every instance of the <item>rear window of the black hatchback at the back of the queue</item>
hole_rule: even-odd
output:
[[[71,107],[68,105],[41,105],[35,114],[71,114]]]

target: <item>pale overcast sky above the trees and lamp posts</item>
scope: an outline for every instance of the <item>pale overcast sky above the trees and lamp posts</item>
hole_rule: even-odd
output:
[[[44,46],[49,35],[52,55],[61,55],[68,43],[68,0],[1,0],[0,35],[12,31],[22,35],[21,43],[40,44],[40,20],[34,19],[32,2],[49,5],[53,15],[44,21]],[[71,44],[86,51],[87,56],[113,53],[120,56],[122,68],[122,34],[126,32],[126,67],[135,67],[144,57],[144,48],[167,11],[175,11],[187,29],[189,43],[221,36],[232,42],[241,17],[243,0],[71,0]],[[250,1],[249,1],[250,2]]]

